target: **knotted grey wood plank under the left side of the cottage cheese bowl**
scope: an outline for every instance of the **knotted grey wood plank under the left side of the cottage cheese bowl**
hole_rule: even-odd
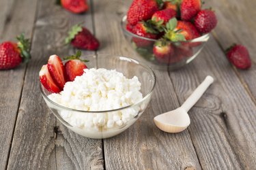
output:
[[[73,48],[63,48],[69,27],[85,21],[93,30],[91,12],[74,15],[51,0],[40,1],[38,7],[33,59],[25,76],[8,169],[103,169],[102,141],[81,137],[61,125],[44,103],[38,80],[48,56],[74,54]]]

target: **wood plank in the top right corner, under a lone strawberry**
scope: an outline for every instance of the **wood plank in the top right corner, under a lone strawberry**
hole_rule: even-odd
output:
[[[233,43],[243,44],[251,54],[253,62],[251,69],[245,71],[235,67],[233,69],[238,73],[242,84],[256,104],[256,1],[209,1],[207,5],[216,10],[218,27],[214,35],[221,47],[226,49]]]

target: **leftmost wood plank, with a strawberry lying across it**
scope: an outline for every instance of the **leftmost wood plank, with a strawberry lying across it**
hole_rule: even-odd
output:
[[[36,3],[0,0],[0,41],[16,41],[16,35],[22,32],[31,37]],[[25,17],[23,14],[26,12],[29,16]],[[8,163],[25,68],[23,64],[15,69],[0,71],[0,169],[5,169]]]

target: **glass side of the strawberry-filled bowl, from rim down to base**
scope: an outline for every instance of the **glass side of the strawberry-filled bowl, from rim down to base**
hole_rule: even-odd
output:
[[[210,33],[208,33],[189,41],[171,42],[171,46],[175,50],[174,54],[162,58],[156,56],[153,52],[156,39],[141,37],[128,31],[126,29],[126,24],[128,23],[126,18],[124,16],[121,21],[124,37],[139,54],[138,60],[147,63],[147,65],[154,69],[167,69],[168,67],[170,70],[173,70],[190,63],[201,52],[210,37]]]

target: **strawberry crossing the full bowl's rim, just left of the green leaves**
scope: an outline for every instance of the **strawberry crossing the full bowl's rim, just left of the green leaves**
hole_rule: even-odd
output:
[[[146,37],[150,39],[157,39],[158,35],[156,35],[157,32],[154,31],[154,29],[147,27],[146,22],[138,22],[132,29],[132,33],[139,35],[141,37]],[[153,44],[153,41],[142,39],[139,37],[132,37],[132,40],[139,48],[151,46]]]

